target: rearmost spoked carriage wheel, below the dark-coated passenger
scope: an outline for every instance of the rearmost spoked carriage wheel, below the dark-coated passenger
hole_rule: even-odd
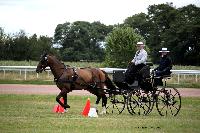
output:
[[[176,116],[181,108],[181,96],[176,88],[162,88],[158,92],[156,107],[161,116]]]

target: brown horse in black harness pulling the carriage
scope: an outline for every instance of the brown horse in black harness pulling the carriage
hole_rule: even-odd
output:
[[[52,54],[43,54],[39,61],[36,72],[41,73],[50,67],[54,75],[54,81],[60,89],[60,93],[56,97],[56,101],[67,111],[70,105],[67,104],[67,94],[72,90],[87,90],[97,96],[95,107],[102,98],[102,112],[106,114],[107,97],[105,90],[116,89],[108,74],[99,68],[74,68],[65,66]],[[64,103],[60,101],[63,98]]]

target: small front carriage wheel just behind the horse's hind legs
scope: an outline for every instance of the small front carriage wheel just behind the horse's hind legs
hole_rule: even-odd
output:
[[[125,108],[126,98],[122,94],[112,94],[108,97],[106,113],[121,114]]]

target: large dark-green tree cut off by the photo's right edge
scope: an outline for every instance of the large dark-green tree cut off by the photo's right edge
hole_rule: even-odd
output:
[[[176,64],[200,65],[200,8],[188,5],[177,9],[176,19],[165,33]]]

